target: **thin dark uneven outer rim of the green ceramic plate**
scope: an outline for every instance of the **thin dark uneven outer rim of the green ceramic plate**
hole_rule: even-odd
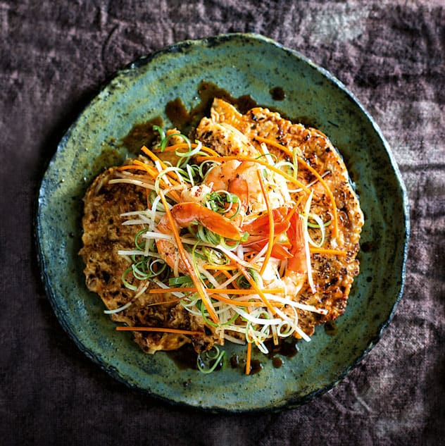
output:
[[[187,404],[187,402],[182,401],[176,401],[174,399],[169,399],[168,397],[163,397],[162,395],[158,395],[155,392],[151,392],[148,389],[142,388],[141,386],[130,383],[128,380],[126,380],[123,376],[120,375],[120,373],[113,367],[110,366],[110,364],[105,364],[103,360],[99,358],[99,354],[96,352],[93,352],[91,349],[89,349],[87,346],[85,346],[73,333],[73,331],[70,328],[70,324],[65,319],[65,314],[63,314],[63,311],[61,311],[61,308],[58,306],[57,298],[54,295],[54,291],[51,288],[50,285],[50,279],[46,273],[46,259],[42,252],[42,242],[41,242],[41,236],[40,233],[41,224],[40,224],[40,209],[41,209],[41,202],[40,198],[42,197],[42,189],[44,187],[44,182],[46,179],[46,172],[51,167],[51,164],[54,163],[56,156],[58,154],[59,149],[63,146],[64,142],[70,138],[71,132],[75,129],[77,122],[80,120],[84,112],[89,108],[89,106],[94,103],[94,101],[98,100],[100,93],[108,87],[113,80],[118,78],[120,75],[125,75],[130,70],[137,70],[139,68],[143,68],[146,65],[149,65],[151,62],[156,60],[156,58],[163,56],[164,54],[171,54],[173,52],[182,52],[184,49],[187,49],[189,47],[212,47],[214,45],[218,45],[222,42],[230,41],[231,39],[249,39],[249,40],[255,40],[255,41],[261,41],[266,44],[271,44],[274,47],[277,47],[277,49],[283,50],[289,54],[292,54],[293,56],[296,56],[296,58],[299,58],[304,63],[307,63],[309,66],[317,70],[319,73],[322,74],[325,78],[333,82],[337,88],[341,89],[341,91],[346,94],[358,107],[358,109],[363,113],[366,120],[372,125],[372,129],[379,138],[379,140],[382,142],[382,146],[384,147],[384,151],[386,151],[386,154],[389,158],[389,163],[391,167],[391,171],[394,172],[394,179],[396,180],[396,184],[400,191],[400,197],[401,197],[401,208],[403,209],[403,252],[401,253],[401,270],[400,270],[400,285],[398,287],[398,292],[396,297],[394,298],[394,304],[392,304],[391,311],[389,313],[389,316],[386,318],[386,320],[380,325],[380,327],[377,330],[377,333],[372,339],[368,342],[367,347],[361,352],[361,354],[356,358],[355,361],[353,361],[349,366],[344,368],[343,373],[341,373],[334,382],[323,386],[322,388],[318,388],[316,390],[313,390],[312,392],[308,393],[307,395],[304,395],[303,397],[294,397],[294,398],[288,398],[284,402],[280,401],[277,403],[277,405],[272,407],[260,407],[260,408],[253,408],[253,409],[227,409],[223,406],[215,406],[215,407],[201,407],[200,405],[194,405],[194,404]],[[250,33],[250,32],[231,32],[226,34],[219,34],[219,35],[213,35],[210,37],[203,37],[201,39],[186,39],[182,42],[176,42],[173,44],[170,44],[168,46],[165,46],[161,49],[158,49],[156,51],[151,52],[150,54],[146,54],[143,56],[140,56],[136,58],[134,61],[127,63],[123,68],[120,68],[118,70],[115,70],[115,72],[106,78],[104,82],[101,82],[99,87],[96,89],[94,93],[92,93],[92,97],[89,97],[87,99],[87,103],[82,107],[82,109],[77,113],[77,116],[73,121],[71,121],[70,125],[68,126],[67,130],[63,132],[63,136],[61,137],[61,140],[58,142],[56,146],[56,150],[54,153],[49,157],[46,165],[43,168],[42,178],[39,181],[38,184],[38,192],[37,192],[37,199],[35,200],[35,206],[34,206],[34,216],[33,216],[33,236],[35,240],[35,249],[37,252],[37,263],[39,266],[39,273],[40,273],[40,279],[42,280],[42,283],[44,285],[44,290],[46,292],[46,296],[49,299],[49,302],[51,304],[51,308],[53,309],[54,313],[56,314],[56,318],[58,319],[58,323],[61,324],[63,330],[65,330],[65,333],[68,334],[68,336],[74,341],[77,348],[80,349],[82,354],[84,354],[89,360],[94,362],[95,364],[99,365],[101,370],[108,373],[109,376],[111,376],[113,379],[118,380],[118,382],[123,383],[128,388],[131,388],[132,390],[137,390],[137,392],[142,392],[146,395],[149,395],[150,397],[153,397],[153,399],[159,400],[163,402],[164,404],[170,404],[175,407],[186,407],[188,409],[196,409],[198,411],[206,411],[206,412],[213,412],[213,413],[226,413],[226,414],[239,414],[239,413],[256,413],[256,412],[278,412],[282,410],[287,409],[293,409],[296,407],[300,407],[303,404],[306,404],[308,402],[311,402],[315,397],[318,397],[319,395],[323,395],[326,392],[332,390],[335,386],[337,386],[344,378],[349,376],[351,371],[355,369],[361,361],[369,354],[369,352],[372,350],[373,347],[377,344],[377,342],[380,341],[382,338],[382,335],[384,333],[384,330],[389,326],[392,319],[394,318],[394,314],[396,312],[397,306],[399,305],[399,302],[403,296],[403,289],[405,285],[406,280],[406,261],[408,258],[408,250],[409,250],[409,239],[410,239],[410,208],[409,208],[409,202],[408,202],[408,193],[406,191],[406,185],[403,181],[403,177],[401,175],[401,172],[399,170],[399,166],[396,163],[395,156],[393,152],[391,151],[391,147],[389,147],[389,143],[387,142],[386,138],[382,134],[382,130],[380,130],[379,125],[375,122],[375,120],[370,116],[368,111],[365,110],[361,102],[356,98],[356,96],[339,80],[337,79],[330,71],[326,70],[325,68],[322,68],[321,66],[318,66],[318,64],[314,63],[310,58],[303,56],[299,51],[296,51],[295,49],[290,49],[288,47],[285,47],[283,44],[280,44],[279,42],[276,42],[275,40],[271,39],[270,37],[265,37],[263,35],[257,34],[257,33]],[[402,244],[402,242],[401,242]],[[399,280],[399,276],[397,277]]]

